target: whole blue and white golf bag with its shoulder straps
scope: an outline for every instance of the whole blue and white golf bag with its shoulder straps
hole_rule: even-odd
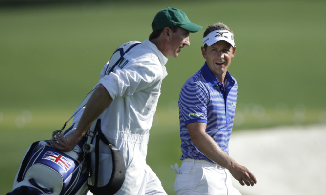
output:
[[[123,55],[140,42],[131,41],[118,47],[111,59],[104,67],[107,75],[123,62]],[[95,87],[96,88],[96,87]],[[74,130],[83,113],[83,108],[95,88],[86,96],[61,130],[52,134],[67,135]],[[66,124],[74,118],[69,129]],[[72,151],[63,152],[50,145],[50,140],[37,141],[31,144],[26,151],[21,166],[16,174],[13,190],[7,195],[86,195],[88,190],[96,195],[113,195],[122,186],[125,179],[126,167],[122,153],[106,139],[101,131],[101,120],[97,119],[87,134]],[[95,145],[93,141],[95,141]],[[104,186],[97,186],[99,175],[99,142],[102,141],[111,149],[112,173],[109,182]],[[90,152],[95,152],[95,171],[90,169]],[[103,174],[103,173],[102,173]],[[90,185],[89,178],[95,178]]]

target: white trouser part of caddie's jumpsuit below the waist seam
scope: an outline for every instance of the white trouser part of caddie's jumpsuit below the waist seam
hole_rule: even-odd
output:
[[[108,138],[108,137],[107,137]],[[137,143],[123,140],[109,139],[123,154],[126,165],[126,177],[120,190],[115,195],[167,195],[161,181],[146,164],[147,143]],[[95,170],[95,154],[92,155],[91,168]],[[109,146],[100,142],[99,181],[103,186],[109,182],[112,173],[112,156]],[[102,174],[101,174],[102,173]],[[94,178],[90,183],[93,184]],[[88,192],[87,195],[92,195]]]

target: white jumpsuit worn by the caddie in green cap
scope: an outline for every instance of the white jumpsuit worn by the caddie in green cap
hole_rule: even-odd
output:
[[[146,164],[147,144],[153,115],[160,95],[161,83],[167,75],[167,58],[157,47],[145,40],[124,55],[123,62],[105,75],[99,84],[113,99],[100,115],[101,129],[109,142],[123,154],[126,178],[117,195],[166,194],[161,182]],[[108,146],[100,145],[100,167],[111,171],[111,154]],[[102,184],[109,181],[111,172],[102,170]],[[100,173],[102,173],[100,170]]]

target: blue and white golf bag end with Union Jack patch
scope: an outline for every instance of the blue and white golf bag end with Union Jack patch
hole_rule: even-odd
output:
[[[40,195],[85,195],[88,192],[89,157],[80,147],[86,138],[74,151],[67,153],[53,148],[49,141],[31,144],[17,173],[14,189],[7,195],[21,195],[22,192],[24,195],[37,195],[36,192]]]

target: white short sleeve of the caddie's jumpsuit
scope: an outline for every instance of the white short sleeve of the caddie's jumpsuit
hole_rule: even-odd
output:
[[[155,86],[162,77],[161,65],[157,65],[151,59],[137,60],[124,56],[128,59],[123,67],[116,66],[114,70],[100,79],[109,92],[112,99],[126,97],[135,92]]]

